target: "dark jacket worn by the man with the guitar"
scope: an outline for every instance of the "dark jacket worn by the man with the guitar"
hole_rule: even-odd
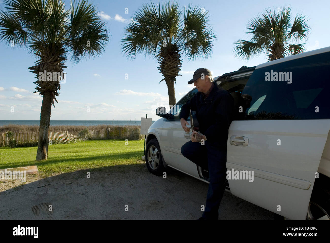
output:
[[[207,141],[219,149],[225,149],[228,139],[228,128],[233,119],[234,98],[214,83],[209,96],[203,100],[203,93],[197,92],[181,108],[180,119],[187,120],[189,108],[196,111],[199,131]]]

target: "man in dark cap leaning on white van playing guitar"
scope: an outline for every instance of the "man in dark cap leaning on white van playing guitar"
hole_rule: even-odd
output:
[[[184,131],[190,127],[186,121],[196,111],[199,131],[204,143],[199,143],[193,131],[191,140],[181,147],[184,157],[209,170],[209,189],[205,211],[198,220],[217,220],[218,209],[225,189],[228,128],[232,122],[233,97],[213,82],[211,71],[198,68],[188,84],[194,83],[198,92],[181,108],[180,122]],[[203,145],[204,144],[204,145]]]

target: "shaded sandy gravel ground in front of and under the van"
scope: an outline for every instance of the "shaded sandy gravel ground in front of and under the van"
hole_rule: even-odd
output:
[[[154,176],[145,164],[124,171],[108,167],[91,178],[83,170],[31,175],[26,183],[1,181],[0,220],[194,220],[202,215],[207,183],[175,170],[167,178]],[[219,220],[273,219],[272,212],[224,193]]]

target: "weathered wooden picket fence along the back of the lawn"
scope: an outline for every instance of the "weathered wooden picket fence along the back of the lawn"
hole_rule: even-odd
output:
[[[8,133],[0,134],[0,147],[8,146]],[[16,140],[17,147],[33,147],[38,146],[39,131],[19,131],[12,132],[13,138]],[[48,132],[48,139],[52,143],[70,143],[73,141],[86,140],[102,140],[102,139],[128,139],[128,140],[144,140],[144,135],[140,135],[140,127],[111,126],[106,129],[85,130],[79,133],[69,133],[68,131]]]

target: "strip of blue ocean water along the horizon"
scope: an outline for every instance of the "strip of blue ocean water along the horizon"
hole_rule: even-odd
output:
[[[17,125],[38,125],[39,120],[0,120],[0,126],[17,124]],[[155,121],[152,121],[152,123]],[[141,125],[141,121],[60,121],[50,120],[51,126],[73,125],[73,126],[96,126],[96,125]]]

